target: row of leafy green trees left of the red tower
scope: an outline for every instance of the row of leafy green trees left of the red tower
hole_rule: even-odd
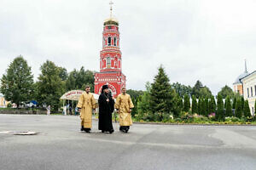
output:
[[[94,72],[74,69],[67,73],[67,69],[46,60],[40,66],[41,73],[34,82],[31,66],[27,65],[23,56],[16,57],[8,66],[1,78],[0,92],[11,103],[20,105],[37,100],[38,105],[51,105],[54,111],[61,106],[61,95],[67,90],[83,89],[89,84],[94,90]]]

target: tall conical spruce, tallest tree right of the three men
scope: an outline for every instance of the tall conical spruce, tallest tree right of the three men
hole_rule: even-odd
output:
[[[170,115],[176,108],[175,105],[175,91],[171,88],[169,78],[167,77],[162,65],[158,70],[158,74],[154,77],[154,82],[151,84],[152,88],[149,92],[150,109],[154,114],[159,115],[159,120],[164,118],[164,114]]]

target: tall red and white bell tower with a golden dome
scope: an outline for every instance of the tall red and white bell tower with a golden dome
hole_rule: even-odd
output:
[[[119,21],[112,17],[112,2],[110,18],[104,21],[102,51],[100,56],[100,72],[94,75],[94,93],[101,94],[102,86],[108,84],[114,98],[125,87],[125,75],[122,73],[122,53],[119,48]]]

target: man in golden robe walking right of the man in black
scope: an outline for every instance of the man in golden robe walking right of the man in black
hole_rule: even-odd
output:
[[[131,109],[134,105],[132,104],[131,96],[126,94],[126,88],[122,88],[122,94],[117,97],[114,107],[119,113],[119,130],[127,133],[132,125]]]

